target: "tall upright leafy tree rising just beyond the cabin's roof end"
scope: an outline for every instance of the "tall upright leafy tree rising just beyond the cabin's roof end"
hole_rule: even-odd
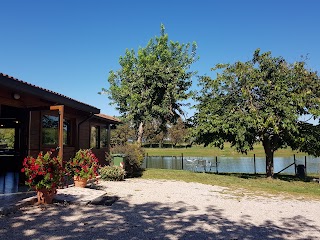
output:
[[[190,97],[190,66],[197,60],[196,43],[169,41],[164,25],[161,35],[152,38],[146,47],[126,50],[120,57],[121,68],[110,71],[109,94],[119,112],[139,128],[141,143],[146,122],[157,119],[161,127],[174,122],[182,113],[183,100]]]

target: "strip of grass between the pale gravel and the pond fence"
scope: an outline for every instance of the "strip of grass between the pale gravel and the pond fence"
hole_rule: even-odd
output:
[[[142,173],[142,178],[197,182],[228,187],[231,191],[241,188],[254,195],[275,194],[289,198],[320,200],[319,183],[303,181],[294,176],[279,176],[278,179],[267,179],[265,176],[248,174],[222,175],[182,170],[147,169]]]

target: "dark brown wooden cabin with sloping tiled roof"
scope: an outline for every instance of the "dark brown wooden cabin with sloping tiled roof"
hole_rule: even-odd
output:
[[[49,149],[68,160],[92,148],[105,165],[110,129],[119,123],[96,107],[0,73],[0,178]]]

